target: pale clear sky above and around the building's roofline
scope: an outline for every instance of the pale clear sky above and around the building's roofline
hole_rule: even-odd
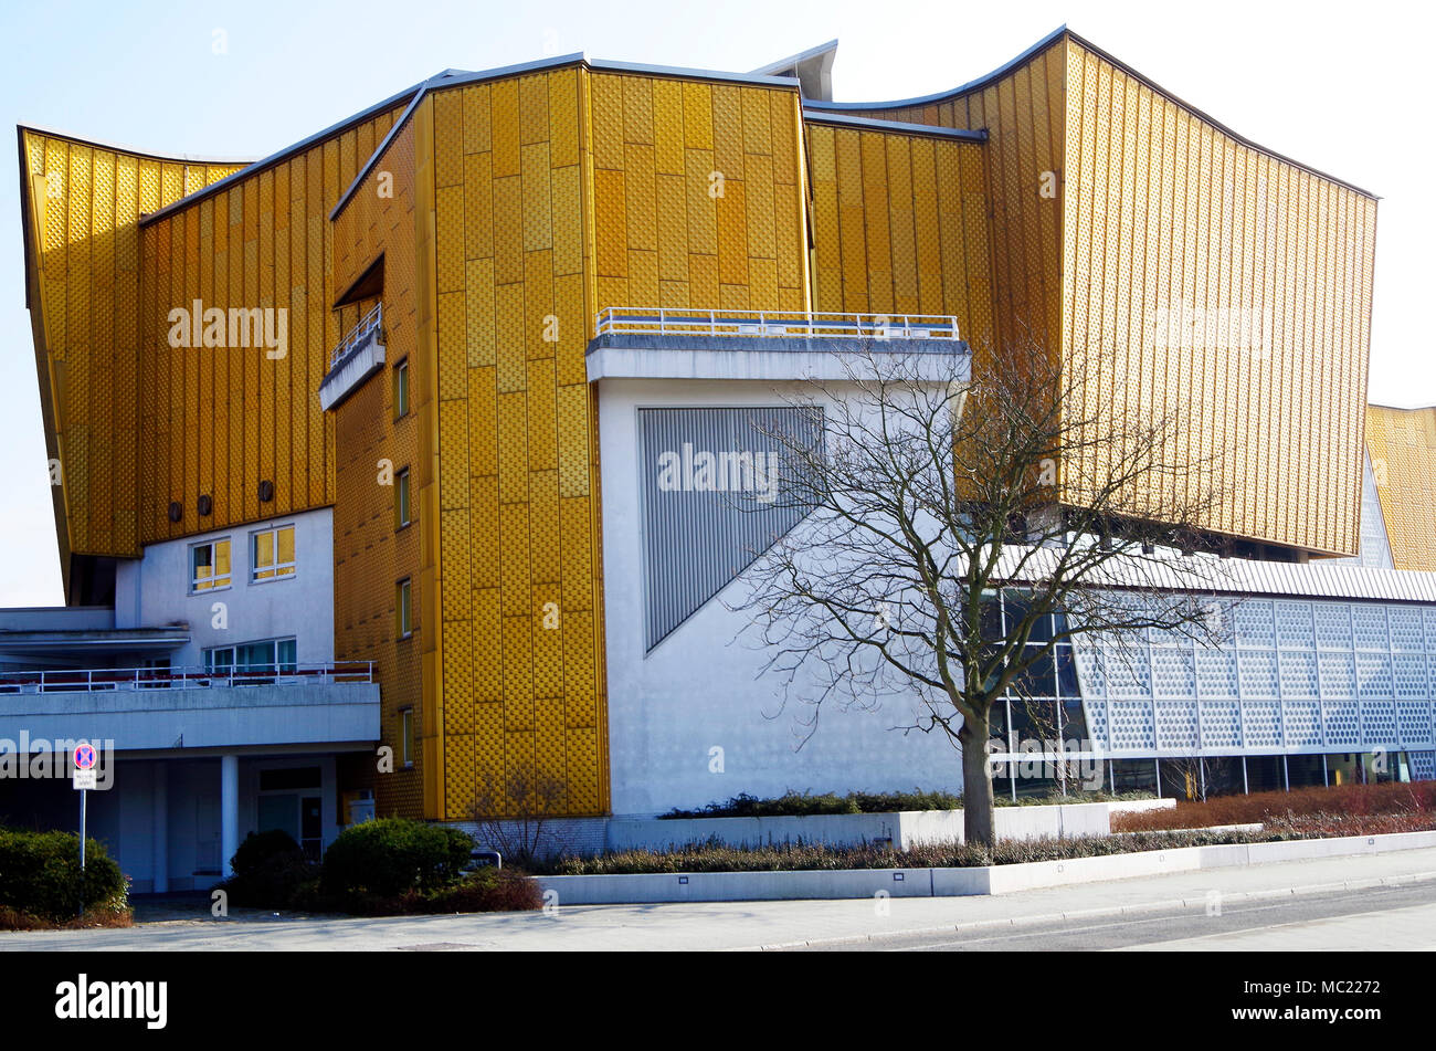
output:
[[[260,158],[447,67],[582,50],[748,70],[837,37],[834,96],[896,99],[979,76],[1061,24],[1238,134],[1381,195],[1370,398],[1436,403],[1425,324],[1436,297],[1436,9],[1425,3],[4,0],[0,111],[6,126]],[[43,606],[63,597],[10,158],[0,164],[0,448],[10,472],[0,606]]]

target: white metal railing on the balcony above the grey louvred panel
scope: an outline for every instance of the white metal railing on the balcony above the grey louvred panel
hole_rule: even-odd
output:
[[[951,314],[824,314],[788,310],[605,307],[596,333],[662,336],[803,336],[816,339],[951,339]]]

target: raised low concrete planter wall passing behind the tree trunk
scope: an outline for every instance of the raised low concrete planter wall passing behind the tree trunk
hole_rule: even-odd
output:
[[[1004,840],[1063,836],[1107,836],[1111,814],[1162,810],[1175,800],[1134,803],[1071,803],[1055,807],[997,807],[994,826]],[[609,850],[675,850],[718,841],[729,847],[778,843],[821,843],[834,847],[892,843],[908,850],[925,843],[962,843],[961,810],[903,810],[892,814],[813,814],[808,817],[655,817],[609,818]]]

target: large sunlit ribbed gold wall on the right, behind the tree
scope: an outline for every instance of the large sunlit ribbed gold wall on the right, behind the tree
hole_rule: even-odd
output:
[[[1071,412],[1173,416],[1222,497],[1200,526],[1354,554],[1376,201],[1067,49]]]

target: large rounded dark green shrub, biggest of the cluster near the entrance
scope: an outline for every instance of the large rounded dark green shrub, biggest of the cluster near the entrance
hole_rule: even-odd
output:
[[[320,886],[339,900],[396,897],[457,883],[474,850],[460,828],[404,817],[365,821],[339,833],[325,851]]]

